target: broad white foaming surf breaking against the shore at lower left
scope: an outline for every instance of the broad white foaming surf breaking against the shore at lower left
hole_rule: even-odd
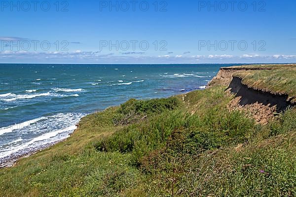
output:
[[[82,113],[58,113],[1,128],[0,134],[14,132],[17,136],[0,147],[0,164],[5,158],[22,156],[69,137],[83,116]]]

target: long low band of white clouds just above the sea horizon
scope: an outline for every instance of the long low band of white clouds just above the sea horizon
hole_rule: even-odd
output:
[[[287,63],[296,62],[296,55],[270,55],[258,54],[233,55],[192,55],[192,56],[140,56],[102,54],[100,51],[74,51],[74,52],[29,52],[29,51],[0,51],[0,62],[14,63],[92,63],[92,64],[174,64],[174,63]]]

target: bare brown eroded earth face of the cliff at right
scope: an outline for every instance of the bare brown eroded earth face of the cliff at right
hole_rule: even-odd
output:
[[[276,94],[263,90],[256,90],[242,83],[239,77],[233,77],[238,71],[250,70],[252,68],[221,68],[219,73],[208,84],[207,88],[215,85],[223,85],[234,95],[228,103],[229,110],[243,110],[249,113],[261,124],[266,124],[274,118],[274,114],[283,112],[287,107],[295,106],[296,103],[289,99],[288,95]],[[268,69],[268,68],[254,68]]]

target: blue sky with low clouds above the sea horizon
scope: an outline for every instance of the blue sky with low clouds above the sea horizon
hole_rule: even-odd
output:
[[[292,0],[1,1],[0,63],[292,63],[295,8]]]

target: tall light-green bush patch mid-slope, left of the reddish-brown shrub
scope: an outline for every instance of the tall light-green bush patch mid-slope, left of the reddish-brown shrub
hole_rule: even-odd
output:
[[[176,128],[185,124],[185,116],[179,111],[165,111],[155,114],[141,123],[134,123],[105,137],[95,144],[98,151],[132,153],[133,163],[149,151],[165,146],[168,137]]]

